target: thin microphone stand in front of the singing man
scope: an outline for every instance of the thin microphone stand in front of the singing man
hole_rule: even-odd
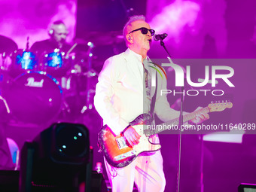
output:
[[[169,58],[172,58],[169,51],[166,49],[166,46],[164,45],[163,39],[165,37],[160,36],[160,45],[166,50],[166,53],[169,55]],[[181,87],[181,93],[184,92],[184,86]],[[179,114],[179,120],[178,120],[178,127],[180,128],[180,132],[178,134],[178,168],[177,168],[177,187],[176,192],[180,191],[180,180],[181,180],[181,126],[183,124],[183,94],[181,94],[181,108],[180,108],[180,114]]]

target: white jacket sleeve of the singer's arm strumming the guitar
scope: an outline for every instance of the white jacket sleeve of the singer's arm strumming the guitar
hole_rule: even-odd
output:
[[[117,62],[113,57],[105,61],[102,72],[99,74],[99,82],[96,84],[94,97],[96,110],[116,136],[129,125],[126,120],[120,117],[111,102],[112,96],[114,96],[114,83],[119,74]]]

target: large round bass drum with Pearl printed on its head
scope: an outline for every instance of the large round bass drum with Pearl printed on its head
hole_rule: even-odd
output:
[[[45,72],[26,72],[7,90],[11,114],[23,123],[45,124],[53,120],[62,105],[58,81]]]

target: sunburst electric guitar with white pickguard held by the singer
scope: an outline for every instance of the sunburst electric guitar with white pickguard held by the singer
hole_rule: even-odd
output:
[[[225,108],[232,108],[231,102],[211,103],[206,108],[194,111],[190,114],[184,114],[184,122],[192,120],[200,113],[209,113],[213,111],[224,111]],[[158,127],[177,126],[179,118],[175,118],[166,123],[158,125]],[[133,120],[130,125],[141,136],[139,144],[131,146],[120,134],[114,136],[111,132],[111,128],[108,125],[102,127],[99,131],[98,142],[100,151],[102,151],[105,160],[114,167],[124,167],[133,162],[139,154],[143,152],[154,152],[161,148],[161,145],[154,144],[149,141],[149,137],[164,131],[164,129],[148,129],[148,125],[151,125],[151,116],[149,114],[140,114]],[[157,126],[156,126],[157,127]]]

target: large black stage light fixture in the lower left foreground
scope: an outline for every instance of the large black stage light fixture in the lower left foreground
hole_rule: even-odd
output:
[[[80,175],[91,185],[93,148],[89,130],[78,123],[53,123],[21,151],[20,192],[78,192]]]

